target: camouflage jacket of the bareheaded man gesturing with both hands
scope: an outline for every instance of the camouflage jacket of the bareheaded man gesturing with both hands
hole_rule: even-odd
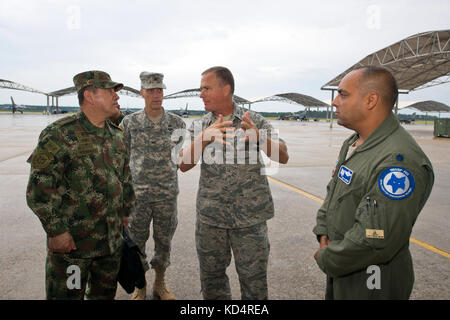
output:
[[[241,128],[242,116],[246,111],[234,105],[230,118],[233,127]],[[260,131],[264,129],[272,139],[283,141],[278,139],[272,125],[264,117],[250,111],[250,118]],[[212,112],[194,121],[189,128],[192,141],[215,121]],[[237,135],[231,148],[213,142],[203,150],[197,216],[205,224],[243,228],[262,223],[274,215],[267,177],[261,172],[264,164],[259,148],[255,143],[238,143],[239,138]]]

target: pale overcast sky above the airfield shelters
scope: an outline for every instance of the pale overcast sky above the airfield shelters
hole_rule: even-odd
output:
[[[0,79],[51,92],[75,74],[104,70],[140,88],[141,71],[162,72],[165,94],[200,85],[205,69],[228,67],[235,93],[251,99],[298,92],[329,102],[320,87],[365,56],[416,33],[449,29],[450,1],[35,1],[0,0]],[[450,84],[401,103],[450,105]],[[0,104],[46,104],[43,95],[0,89]],[[121,97],[122,107],[143,99]],[[169,109],[199,98],[167,100]],[[60,105],[77,105],[75,96]],[[260,103],[257,111],[296,111]]]

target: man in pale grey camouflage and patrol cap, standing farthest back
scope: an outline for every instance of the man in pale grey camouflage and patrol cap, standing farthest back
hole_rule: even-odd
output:
[[[153,220],[155,250],[150,262],[155,270],[153,296],[173,300],[175,297],[166,288],[164,275],[170,265],[171,241],[178,223],[177,155],[184,135],[176,130],[184,132],[186,124],[181,117],[166,112],[162,106],[163,89],[166,88],[164,75],[144,71],[140,78],[145,109],[126,116],[121,123],[136,192],[136,210],[132,213],[127,231],[138,245],[144,270],[147,271],[150,267],[146,260],[145,244]],[[172,157],[172,154],[175,156]],[[137,288],[132,295],[133,300],[145,297],[145,287]]]

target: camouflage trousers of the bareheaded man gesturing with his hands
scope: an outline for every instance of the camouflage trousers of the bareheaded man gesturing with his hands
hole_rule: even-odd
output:
[[[195,230],[203,299],[231,299],[226,269],[231,250],[243,300],[268,299],[269,237],[266,222],[248,228],[216,228],[197,219]]]

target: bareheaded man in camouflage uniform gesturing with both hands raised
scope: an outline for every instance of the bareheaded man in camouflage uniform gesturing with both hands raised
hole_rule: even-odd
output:
[[[280,163],[289,157],[270,123],[237,106],[233,93],[227,68],[202,73],[200,97],[210,112],[190,127],[192,143],[180,169],[190,170],[201,156],[196,246],[203,298],[231,299],[226,269],[232,250],[242,299],[268,299],[266,221],[274,207],[259,151]]]

